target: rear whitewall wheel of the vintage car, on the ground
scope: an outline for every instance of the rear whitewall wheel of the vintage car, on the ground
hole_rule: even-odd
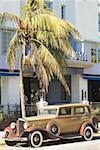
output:
[[[92,140],[93,138],[93,129],[92,127],[90,126],[87,126],[85,129],[84,129],[84,135],[83,135],[84,139],[86,141],[90,141]]]

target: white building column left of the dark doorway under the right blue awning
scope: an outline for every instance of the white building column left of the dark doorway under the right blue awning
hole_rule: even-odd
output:
[[[71,75],[72,102],[81,103],[88,101],[88,83],[79,74]]]

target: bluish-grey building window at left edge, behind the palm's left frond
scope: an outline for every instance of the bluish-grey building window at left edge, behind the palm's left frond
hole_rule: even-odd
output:
[[[8,44],[14,35],[13,31],[1,31],[1,52],[7,52]]]

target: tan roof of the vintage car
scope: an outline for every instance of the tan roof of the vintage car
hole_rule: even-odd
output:
[[[71,103],[71,104],[62,104],[62,105],[47,105],[44,106],[44,109],[59,109],[62,107],[82,107],[82,106],[90,106],[89,104],[83,104],[83,103]]]

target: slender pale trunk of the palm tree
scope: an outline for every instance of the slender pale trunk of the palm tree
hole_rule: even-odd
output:
[[[20,100],[21,100],[21,113],[22,118],[25,118],[25,99],[24,99],[24,84],[23,84],[23,69],[24,69],[24,53],[25,52],[25,45],[22,46],[22,54],[21,54],[21,61],[20,61]]]

